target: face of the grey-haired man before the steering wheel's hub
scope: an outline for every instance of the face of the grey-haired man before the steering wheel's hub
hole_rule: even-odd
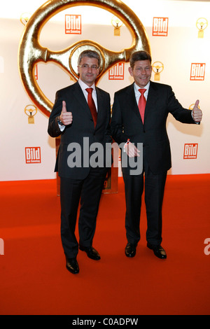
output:
[[[83,57],[78,66],[78,73],[83,83],[86,83],[86,85],[90,87],[99,74],[99,63],[97,58]]]

